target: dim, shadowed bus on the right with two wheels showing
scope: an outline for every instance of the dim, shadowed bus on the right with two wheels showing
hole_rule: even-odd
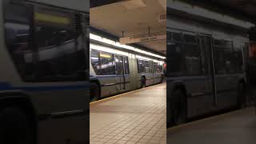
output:
[[[246,101],[246,30],[167,19],[167,122],[170,126]]]

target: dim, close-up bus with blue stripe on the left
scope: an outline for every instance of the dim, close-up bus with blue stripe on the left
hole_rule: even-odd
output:
[[[88,143],[89,3],[0,0],[0,9],[0,143]]]

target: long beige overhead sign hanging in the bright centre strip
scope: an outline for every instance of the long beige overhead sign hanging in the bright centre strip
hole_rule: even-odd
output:
[[[129,44],[129,43],[139,43],[139,42],[150,42],[150,41],[157,41],[157,40],[162,40],[166,39],[166,34],[161,34],[161,35],[150,35],[150,36],[144,36],[144,37],[125,37],[125,38],[120,38],[119,42],[124,45],[124,44]]]

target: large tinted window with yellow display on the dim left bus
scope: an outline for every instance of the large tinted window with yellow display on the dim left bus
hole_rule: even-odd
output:
[[[86,70],[81,18],[75,14],[36,7],[35,46],[40,78],[76,78]]]

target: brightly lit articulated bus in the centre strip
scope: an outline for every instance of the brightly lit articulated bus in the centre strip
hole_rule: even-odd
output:
[[[90,101],[163,82],[164,58],[90,34]]]

